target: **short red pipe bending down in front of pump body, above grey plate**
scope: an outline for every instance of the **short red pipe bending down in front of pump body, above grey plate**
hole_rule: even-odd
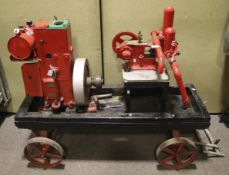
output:
[[[157,35],[157,32],[156,31],[153,31],[151,33],[152,37],[153,37],[153,43],[155,45],[158,45],[159,47],[156,48],[156,55],[157,55],[157,60],[158,60],[158,65],[157,65],[157,72],[159,74],[162,74],[163,73],[163,70],[164,70],[164,53],[161,49],[161,42],[158,38],[158,35]]]

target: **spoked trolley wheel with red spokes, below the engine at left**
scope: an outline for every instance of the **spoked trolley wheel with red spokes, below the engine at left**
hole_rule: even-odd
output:
[[[24,154],[33,166],[46,169],[57,167],[63,159],[64,151],[54,140],[34,137],[28,140]]]

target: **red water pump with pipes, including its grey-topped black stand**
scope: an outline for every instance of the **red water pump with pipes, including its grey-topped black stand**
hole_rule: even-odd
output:
[[[152,31],[152,39],[148,42],[142,41],[141,32],[138,35],[132,32],[120,32],[113,38],[113,51],[118,58],[125,60],[123,80],[127,97],[138,90],[147,91],[147,87],[152,89],[160,86],[164,89],[160,98],[166,98],[169,76],[164,66],[164,59],[167,58],[176,78],[184,107],[189,106],[190,100],[175,59],[179,51],[175,40],[173,18],[174,8],[166,7],[162,29]],[[129,99],[127,98],[126,101],[127,110],[133,107]]]

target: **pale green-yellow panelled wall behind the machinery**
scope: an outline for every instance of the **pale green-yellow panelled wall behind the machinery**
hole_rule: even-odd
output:
[[[13,28],[24,21],[70,19],[75,57],[87,57],[93,75],[101,74],[99,0],[1,0],[0,53],[16,111],[24,97],[21,63],[9,61],[7,41]],[[104,66],[106,84],[121,83],[121,66],[111,48],[120,31],[142,31],[144,39],[161,27],[163,9],[176,9],[174,26],[180,43],[178,57],[185,82],[198,89],[210,112],[229,107],[229,58],[223,54],[223,40],[229,23],[228,0],[103,0]],[[174,81],[174,79],[173,79]]]

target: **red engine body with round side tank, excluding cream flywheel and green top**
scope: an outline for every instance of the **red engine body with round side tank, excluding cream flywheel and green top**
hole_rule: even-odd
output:
[[[22,27],[9,40],[8,49],[14,60],[23,61],[32,56],[38,61],[22,67],[26,94],[43,96],[46,107],[57,109],[74,103],[73,49],[70,26],[49,29],[49,23],[40,20]]]

